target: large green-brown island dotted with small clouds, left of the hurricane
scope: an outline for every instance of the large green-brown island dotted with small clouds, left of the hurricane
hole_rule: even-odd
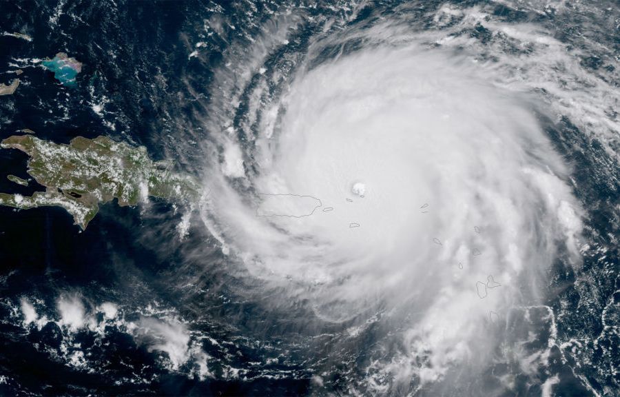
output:
[[[152,161],[145,147],[105,136],[78,136],[64,145],[21,135],[0,145],[28,154],[28,174],[45,187],[45,192],[32,196],[0,193],[0,205],[21,209],[57,205],[82,229],[99,211],[99,203],[113,199],[119,205],[136,205],[153,196],[192,207],[199,196],[191,176],[172,172],[168,162]]]

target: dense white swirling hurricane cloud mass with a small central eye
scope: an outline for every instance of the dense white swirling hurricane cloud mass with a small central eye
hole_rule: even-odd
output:
[[[466,54],[383,41],[321,62],[317,43],[251,148],[232,128],[218,143],[203,214],[274,301],[352,338],[398,319],[378,391],[482,368],[557,251],[578,261],[581,228],[537,99]]]

